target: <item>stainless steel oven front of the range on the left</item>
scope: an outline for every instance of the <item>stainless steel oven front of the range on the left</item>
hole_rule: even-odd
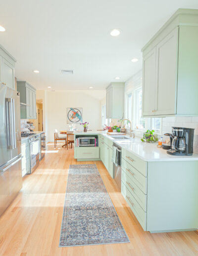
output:
[[[33,173],[35,169],[39,166],[39,151],[40,143],[39,136],[34,135],[29,138],[30,141],[30,173]]]

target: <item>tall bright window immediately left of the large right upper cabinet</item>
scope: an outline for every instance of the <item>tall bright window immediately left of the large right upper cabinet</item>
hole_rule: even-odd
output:
[[[146,119],[142,118],[142,87],[135,91],[135,128],[145,129]]]

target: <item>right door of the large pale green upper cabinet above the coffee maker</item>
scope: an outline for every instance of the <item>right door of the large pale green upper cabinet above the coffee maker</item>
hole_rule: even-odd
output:
[[[155,115],[176,114],[178,31],[176,27],[156,47]]]

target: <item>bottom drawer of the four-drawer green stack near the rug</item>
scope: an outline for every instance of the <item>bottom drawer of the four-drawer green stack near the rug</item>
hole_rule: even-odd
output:
[[[147,229],[147,212],[145,212],[133,195],[129,192],[127,187],[122,183],[121,185],[122,195],[126,199],[127,203],[129,204],[131,210],[133,211],[134,215],[138,219],[140,225],[146,231]]]

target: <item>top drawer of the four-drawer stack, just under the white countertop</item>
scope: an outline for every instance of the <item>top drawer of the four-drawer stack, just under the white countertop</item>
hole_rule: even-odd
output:
[[[139,157],[135,156],[126,149],[122,149],[122,157],[145,177],[147,177],[147,162],[143,161]]]

